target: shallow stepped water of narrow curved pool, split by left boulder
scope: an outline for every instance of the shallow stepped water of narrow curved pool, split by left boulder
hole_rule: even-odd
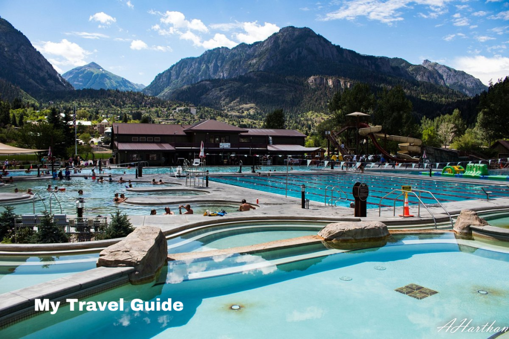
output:
[[[216,217],[219,218],[219,217]],[[209,251],[314,235],[322,223],[227,223],[167,241],[168,253]],[[60,256],[0,256],[0,294],[96,267],[99,253]]]

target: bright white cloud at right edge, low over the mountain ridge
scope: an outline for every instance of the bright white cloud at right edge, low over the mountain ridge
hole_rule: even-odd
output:
[[[453,61],[451,67],[465,71],[487,85],[490,80],[496,82],[509,75],[509,57],[460,56]]]

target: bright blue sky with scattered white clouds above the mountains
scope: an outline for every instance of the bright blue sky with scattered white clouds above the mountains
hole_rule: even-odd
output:
[[[484,84],[509,76],[505,0],[0,0],[0,17],[60,74],[93,61],[144,85],[182,58],[286,26],[361,54],[435,61]]]

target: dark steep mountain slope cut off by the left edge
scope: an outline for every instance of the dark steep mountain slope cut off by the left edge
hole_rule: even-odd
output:
[[[19,30],[0,18],[0,78],[31,96],[74,89]]]

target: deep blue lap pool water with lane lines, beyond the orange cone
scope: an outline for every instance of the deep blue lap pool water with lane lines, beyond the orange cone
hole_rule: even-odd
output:
[[[380,202],[380,198],[385,196],[392,190],[401,190],[402,186],[410,185],[412,189],[430,191],[440,201],[440,203],[449,201],[463,201],[468,199],[486,199],[486,194],[479,189],[478,184],[457,182],[457,181],[438,181],[418,178],[395,177],[385,175],[372,174],[356,174],[356,173],[322,173],[322,174],[294,174],[288,176],[288,191],[286,190],[286,175],[271,176],[213,176],[211,181],[228,183],[234,186],[250,188],[263,192],[270,192],[300,198],[301,185],[305,185],[306,198],[309,200],[325,203],[325,189],[327,186],[341,188],[348,196],[347,200],[340,200],[337,205],[344,207],[350,206],[350,202],[354,201],[352,196],[352,188],[355,182],[364,182],[369,187],[369,197],[367,198],[367,208],[376,208]],[[483,185],[487,190],[491,191],[490,198],[509,197],[509,189],[507,186]],[[330,190],[328,193],[330,198]],[[391,195],[392,198],[398,194]],[[345,198],[345,196],[343,196]],[[402,201],[400,197],[400,201]],[[417,199],[413,195],[408,196],[409,203],[417,203]],[[423,194],[422,201],[427,204],[436,203],[429,195]],[[392,201],[383,200],[382,206],[392,207]]]

